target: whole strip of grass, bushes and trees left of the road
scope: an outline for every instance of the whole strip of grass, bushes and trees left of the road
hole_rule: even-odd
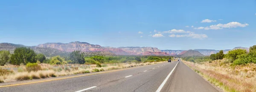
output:
[[[116,70],[157,64],[174,59],[172,56],[91,56],[73,51],[68,57],[36,54],[26,47],[16,48],[14,53],[0,51],[0,83],[58,77],[105,70]],[[6,70],[3,68],[18,68]]]

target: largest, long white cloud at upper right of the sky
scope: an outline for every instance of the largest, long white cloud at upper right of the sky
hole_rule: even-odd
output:
[[[218,30],[218,29],[223,29],[223,28],[246,27],[248,25],[249,24],[247,24],[247,23],[241,24],[239,22],[229,22],[227,24],[210,25],[210,26],[207,26],[207,27],[199,27],[199,28],[195,28],[195,29],[204,29],[204,30],[213,29],[213,30]]]

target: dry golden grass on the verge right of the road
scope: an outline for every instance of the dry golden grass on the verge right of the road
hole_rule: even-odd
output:
[[[256,64],[230,66],[226,59],[201,64],[183,62],[225,92],[256,92]]]

